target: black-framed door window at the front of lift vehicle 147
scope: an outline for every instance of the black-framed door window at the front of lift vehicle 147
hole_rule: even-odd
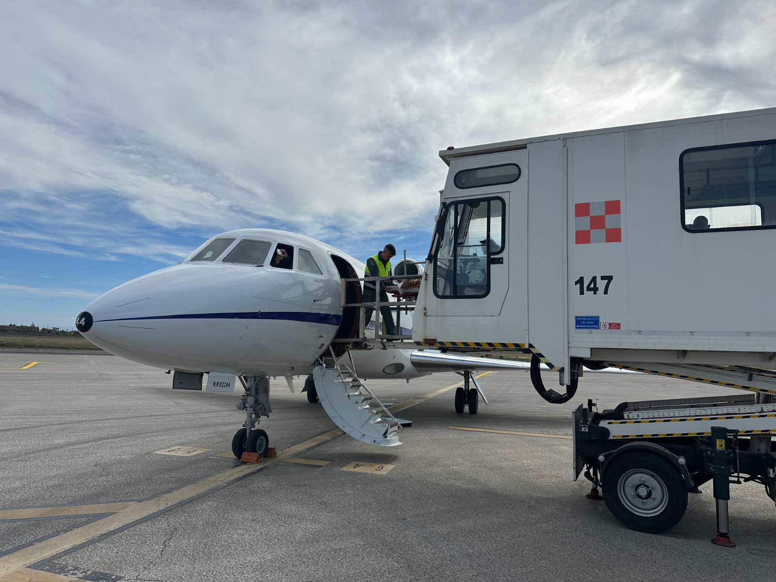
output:
[[[490,293],[490,258],[504,250],[504,200],[451,203],[438,229],[435,295],[484,297]]]

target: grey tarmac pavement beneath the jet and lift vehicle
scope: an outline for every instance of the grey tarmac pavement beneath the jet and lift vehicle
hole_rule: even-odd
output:
[[[397,413],[414,424],[383,449],[273,380],[261,426],[281,458],[250,466],[219,456],[244,419],[237,392],[172,390],[164,370],[113,356],[0,352],[0,582],[776,579],[760,485],[732,487],[738,547],[725,549],[710,542],[710,483],[679,525],[648,535],[573,481],[570,412],[587,398],[735,390],[586,371],[575,399],[551,405],[528,372],[492,372],[472,415],[453,411],[458,381],[370,381],[392,403],[450,387]],[[159,453],[176,447],[204,450]],[[343,470],[353,463],[381,469]]]

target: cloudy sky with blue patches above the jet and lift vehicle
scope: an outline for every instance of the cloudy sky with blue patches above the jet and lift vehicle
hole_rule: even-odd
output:
[[[0,324],[223,230],[421,258],[438,151],[776,106],[776,2],[2,2]]]

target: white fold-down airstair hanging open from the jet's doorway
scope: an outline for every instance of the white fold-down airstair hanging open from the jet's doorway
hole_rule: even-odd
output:
[[[349,365],[338,363],[332,352],[319,360],[313,379],[326,414],[348,435],[368,445],[401,444],[399,421],[359,379],[352,359]]]

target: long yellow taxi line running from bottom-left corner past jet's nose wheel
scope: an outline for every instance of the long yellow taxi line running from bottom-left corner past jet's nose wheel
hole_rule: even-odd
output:
[[[480,374],[485,376],[489,372]],[[477,377],[480,377],[477,376]],[[424,396],[413,398],[405,402],[400,402],[391,410],[404,410],[404,408],[411,407],[413,404],[422,402],[433,398],[438,394],[446,392],[459,386],[459,383],[455,383],[452,386],[447,386],[441,390],[435,390],[434,392],[425,394]],[[18,575],[20,570],[27,569],[27,566],[33,563],[40,562],[42,559],[50,558],[58,553],[67,551],[68,549],[80,546],[82,543],[95,539],[100,535],[106,535],[109,532],[114,532],[116,529],[123,528],[126,525],[130,525],[135,521],[147,518],[159,511],[170,508],[174,505],[180,504],[183,501],[198,497],[199,495],[206,494],[210,490],[218,489],[235,480],[241,479],[244,476],[248,476],[251,473],[265,469],[266,467],[275,464],[275,462],[281,462],[282,459],[297,455],[307,449],[312,449],[314,446],[323,444],[324,442],[331,441],[333,438],[337,438],[339,435],[344,434],[339,428],[334,428],[331,431],[324,432],[321,435],[317,435],[313,438],[308,438],[306,441],[297,443],[296,445],[289,446],[287,449],[282,449],[278,452],[278,456],[272,459],[262,459],[257,463],[251,463],[247,465],[240,465],[221,471],[206,479],[196,481],[185,487],[181,487],[178,490],[171,491],[169,493],[154,497],[148,501],[138,501],[131,504],[126,508],[116,511],[112,515],[107,515],[104,518],[100,518],[96,521],[92,521],[88,524],[81,525],[79,528],[72,529],[69,532],[55,535],[53,538],[44,539],[42,542],[38,542],[33,546],[28,546],[23,549],[19,549],[16,552],[9,553],[0,558],[0,582],[17,582],[17,580],[23,580],[19,578],[12,578],[12,575]],[[12,510],[16,511],[16,510]]]

